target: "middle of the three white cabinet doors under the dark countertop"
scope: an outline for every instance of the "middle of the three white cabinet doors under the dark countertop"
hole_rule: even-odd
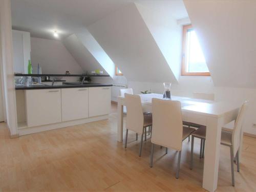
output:
[[[62,121],[88,117],[88,88],[61,89]]]

